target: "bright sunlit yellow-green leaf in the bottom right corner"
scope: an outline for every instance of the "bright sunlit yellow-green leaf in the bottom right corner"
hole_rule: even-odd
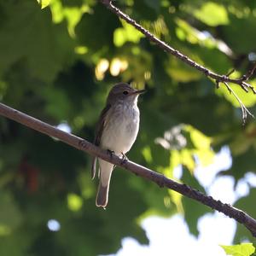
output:
[[[250,256],[255,251],[255,247],[253,247],[253,243],[241,243],[239,245],[234,246],[224,246],[225,253],[230,256]]]

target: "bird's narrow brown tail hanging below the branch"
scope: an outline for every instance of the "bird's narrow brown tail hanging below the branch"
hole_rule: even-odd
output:
[[[99,165],[101,174],[96,196],[96,206],[105,208],[108,205],[108,189],[113,171],[113,165],[104,160],[99,160]]]

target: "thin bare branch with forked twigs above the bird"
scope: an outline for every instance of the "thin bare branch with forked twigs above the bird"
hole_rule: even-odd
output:
[[[191,60],[187,55],[183,55],[177,49],[172,48],[169,44],[166,44],[164,41],[161,41],[159,38],[156,38],[151,32],[148,32],[148,30],[146,30],[143,26],[139,25],[137,23],[137,21],[131,19],[131,17],[129,15],[126,15],[120,9],[118,9],[116,6],[114,6],[111,0],[101,0],[101,2],[108,9],[110,9],[115,15],[118,15],[120,19],[125,20],[127,23],[131,24],[131,26],[134,26],[138,31],[142,32],[143,35],[146,38],[148,38],[149,41],[157,44],[160,47],[160,49],[163,49],[164,51],[176,56],[177,59],[185,62],[186,64],[188,64],[191,67],[195,67],[201,73],[204,73],[208,78],[213,79],[217,85],[217,89],[219,88],[219,83],[223,83],[225,86],[227,83],[231,83],[231,84],[240,85],[241,89],[245,90],[246,92],[248,92],[249,90],[252,90],[253,94],[256,94],[256,90],[253,87],[253,85],[247,83],[247,80],[253,76],[253,72],[256,70],[256,63],[253,65],[253,68],[251,70],[249,70],[246,74],[242,75],[240,79],[231,79],[230,73],[227,75],[220,75],[218,73],[213,73],[207,67],[201,66],[200,64]],[[236,94],[234,92],[232,94],[236,97],[236,100],[239,102],[239,104],[241,106],[242,122],[244,124],[245,120],[247,119],[247,113],[249,115],[251,115],[252,117],[253,117],[253,114],[250,113],[247,110],[247,108],[245,108],[244,104],[241,105],[241,100],[239,99],[238,96],[236,96]],[[243,106],[244,106],[244,108],[243,108]]]

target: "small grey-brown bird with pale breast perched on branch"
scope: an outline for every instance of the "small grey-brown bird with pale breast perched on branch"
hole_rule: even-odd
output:
[[[140,122],[137,97],[143,92],[144,90],[131,88],[129,84],[113,86],[96,126],[96,146],[107,149],[110,153],[125,156],[137,137]],[[94,157],[91,167],[92,178],[96,175],[96,160]],[[96,206],[105,208],[108,204],[108,189],[114,166],[105,160],[98,161],[100,183]]]

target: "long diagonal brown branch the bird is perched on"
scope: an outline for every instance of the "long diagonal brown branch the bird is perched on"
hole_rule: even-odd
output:
[[[32,118],[26,113],[21,113],[20,111],[10,108],[3,103],[0,103],[0,114],[9,119],[13,119],[22,125],[26,125],[27,127],[44,133],[49,137],[55,137],[73,148],[78,148],[79,150],[83,150],[88,154],[96,155],[97,157],[100,157],[113,165],[123,167],[129,172],[133,172],[137,176],[144,177],[154,183],[157,183],[161,188],[166,187],[168,189],[175,190],[182,195],[217,210],[218,212],[223,212],[225,215],[229,216],[230,218],[234,218],[237,222],[243,224],[247,230],[250,230],[253,236],[256,237],[256,220],[249,216],[246,212],[242,212],[241,210],[231,207],[228,204],[224,204],[221,201],[216,201],[212,198],[212,196],[204,195],[200,191],[192,189],[186,184],[177,183],[158,172],[154,172],[144,166],[137,165],[130,160],[124,162],[124,160],[115,154],[110,156],[107,151],[96,147],[92,143],[89,143],[80,137],[74,136],[73,134],[65,131],[61,131],[52,125]]]

